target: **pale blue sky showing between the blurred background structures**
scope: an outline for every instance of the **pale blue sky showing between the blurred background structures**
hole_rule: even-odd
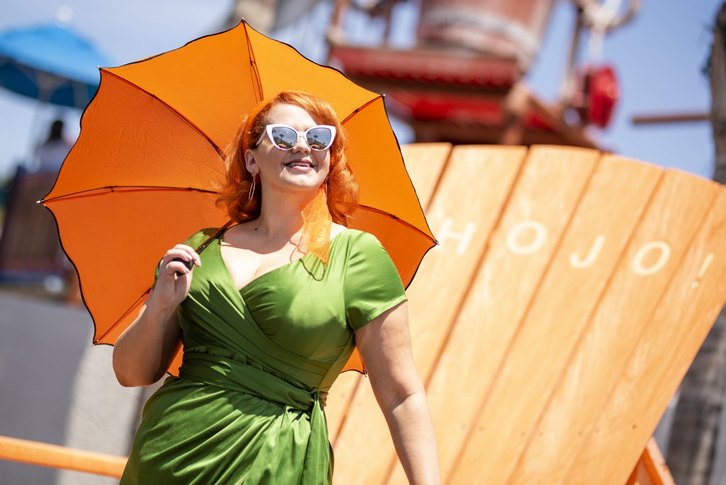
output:
[[[416,0],[394,13],[393,46],[413,43]],[[627,4],[623,0],[622,4]],[[679,168],[710,178],[713,172],[711,128],[706,121],[635,126],[634,115],[706,113],[710,105],[703,65],[711,45],[711,25],[720,0],[645,0],[639,14],[605,37],[599,56],[583,62],[613,65],[621,97],[611,125],[590,133],[601,147],[659,166]],[[70,25],[113,62],[121,65],[176,49],[221,28],[232,0],[0,0],[0,30],[53,23],[57,12],[73,12]],[[274,33],[311,60],[325,57],[323,34],[330,18],[330,1],[301,21]],[[255,25],[253,18],[247,19]],[[539,54],[527,76],[534,94],[554,102],[565,69],[574,9],[568,1],[555,4]],[[380,25],[350,16],[346,35],[351,42],[375,38]],[[60,116],[67,135],[77,136],[81,112],[39,106],[38,102],[0,89],[0,178],[25,163],[47,126]],[[401,143],[412,142],[411,131],[394,121]]]

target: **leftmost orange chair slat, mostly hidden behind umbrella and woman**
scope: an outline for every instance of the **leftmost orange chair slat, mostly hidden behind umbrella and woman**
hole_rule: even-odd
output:
[[[431,202],[433,191],[439,183],[451,148],[449,143],[417,143],[401,147],[404,163],[406,163],[411,182],[423,208],[426,208]],[[338,439],[338,431],[346,419],[355,389],[361,382],[365,383],[365,380],[359,373],[343,372],[330,389],[325,417],[330,442],[333,444]]]

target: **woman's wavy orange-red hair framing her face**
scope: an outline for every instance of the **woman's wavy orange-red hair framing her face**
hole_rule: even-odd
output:
[[[330,173],[327,176],[327,207],[333,221],[347,226],[358,208],[358,182],[346,163],[348,137],[333,107],[325,99],[302,91],[282,91],[264,99],[242,121],[237,134],[224,150],[227,177],[218,189],[217,206],[225,208],[229,218],[235,222],[259,217],[262,189],[260,184],[256,184],[252,199],[248,200],[252,175],[245,166],[245,150],[261,136],[272,107],[280,104],[299,106],[316,123],[335,126],[335,140],[330,146]]]

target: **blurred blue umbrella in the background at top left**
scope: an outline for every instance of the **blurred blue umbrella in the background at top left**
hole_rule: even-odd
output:
[[[83,108],[107,58],[70,27],[38,25],[0,32],[0,86],[53,105]]]

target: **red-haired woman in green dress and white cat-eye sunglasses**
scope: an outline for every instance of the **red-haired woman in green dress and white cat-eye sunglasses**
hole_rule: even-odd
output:
[[[330,483],[322,406],[354,347],[409,481],[439,482],[401,280],[375,237],[343,225],[357,200],[345,143],[332,107],[301,92],[242,123],[219,199],[237,224],[168,250],[115,345],[119,382],[147,386],[184,343],[122,483]]]

